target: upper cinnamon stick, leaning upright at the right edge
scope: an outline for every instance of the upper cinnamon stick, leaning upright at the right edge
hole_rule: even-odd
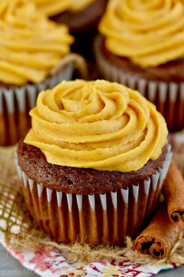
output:
[[[182,219],[184,222],[184,179],[173,159],[164,181],[163,194],[170,220],[176,223]]]

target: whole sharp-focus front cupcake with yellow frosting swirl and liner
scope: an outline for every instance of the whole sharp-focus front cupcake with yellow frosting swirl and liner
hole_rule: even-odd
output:
[[[28,209],[58,241],[123,244],[157,207],[171,161],[167,126],[139,92],[104,80],[42,91],[17,148]]]

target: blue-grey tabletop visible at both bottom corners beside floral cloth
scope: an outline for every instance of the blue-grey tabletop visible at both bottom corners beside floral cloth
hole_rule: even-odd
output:
[[[2,270],[21,270],[24,272],[25,267],[21,265],[21,263],[13,258],[13,256],[8,253],[4,247],[0,244],[0,276],[2,275]],[[25,269],[26,270],[26,269]],[[7,277],[16,276],[22,277],[25,275],[4,275]],[[29,276],[38,277],[37,274],[31,274]],[[156,276],[184,276],[184,268],[175,268],[172,270],[162,271],[161,273],[157,274]]]

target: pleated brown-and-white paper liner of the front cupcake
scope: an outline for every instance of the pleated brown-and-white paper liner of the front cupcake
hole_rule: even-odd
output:
[[[163,180],[171,162],[171,146],[163,168],[148,180],[106,194],[75,195],[50,190],[29,179],[15,162],[28,209],[36,223],[62,242],[77,239],[92,245],[123,244],[144,227],[157,206]]]

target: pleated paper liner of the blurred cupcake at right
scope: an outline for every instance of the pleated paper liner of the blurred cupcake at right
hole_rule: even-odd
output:
[[[165,117],[169,131],[184,128],[184,82],[152,81],[130,74],[105,58],[101,51],[102,40],[101,35],[96,37],[94,54],[103,78],[138,90],[153,102],[157,110]]]

